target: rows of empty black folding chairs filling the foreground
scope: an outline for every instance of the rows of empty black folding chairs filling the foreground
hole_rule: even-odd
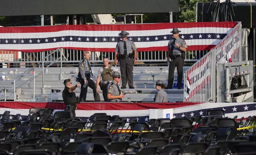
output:
[[[256,116],[237,122],[223,112],[126,123],[107,113],[95,113],[85,122],[71,119],[68,111],[53,113],[52,108],[31,108],[21,122],[20,114],[10,119],[13,114],[6,111],[0,119],[0,154],[255,155],[256,132],[250,126]]]

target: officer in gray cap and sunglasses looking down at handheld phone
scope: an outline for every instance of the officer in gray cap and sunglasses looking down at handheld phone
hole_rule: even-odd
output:
[[[119,102],[124,97],[124,94],[121,92],[119,85],[117,84],[120,81],[119,72],[113,72],[112,78],[113,81],[108,85],[107,97],[109,102]]]

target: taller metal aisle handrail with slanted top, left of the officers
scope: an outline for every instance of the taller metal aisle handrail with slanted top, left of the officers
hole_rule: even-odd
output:
[[[60,49],[60,57],[58,58],[58,59],[56,59],[56,60],[54,60],[52,63],[50,63],[50,64],[48,64],[48,66],[46,66],[46,67],[44,67],[44,62],[45,62],[45,59],[47,58],[47,57],[49,57],[50,55],[52,55],[52,53],[54,53],[54,52],[56,52],[56,51],[58,51]],[[60,59],[60,74],[62,74],[62,55],[63,55],[63,53],[62,53],[62,49],[59,47],[59,48],[57,48],[57,49],[55,49],[54,51],[52,51],[50,54],[48,54],[47,56],[45,56],[44,58],[43,58],[43,60],[42,60],[42,81],[43,81],[43,95],[45,94],[45,82],[44,82],[44,70],[46,69],[46,68],[48,68],[50,65],[52,65],[54,62],[56,62],[56,61],[58,61],[59,59]],[[60,77],[61,78],[61,77]]]

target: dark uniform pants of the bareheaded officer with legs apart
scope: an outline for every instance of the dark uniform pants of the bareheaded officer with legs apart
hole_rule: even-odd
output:
[[[80,84],[81,84],[80,102],[86,101],[88,86],[91,89],[93,89],[94,101],[99,102],[101,100],[101,98],[100,98],[99,94],[96,92],[96,83],[92,79],[87,79],[87,81],[88,81],[88,83],[87,83],[86,87],[84,88],[83,87],[84,80],[83,79],[80,80]]]

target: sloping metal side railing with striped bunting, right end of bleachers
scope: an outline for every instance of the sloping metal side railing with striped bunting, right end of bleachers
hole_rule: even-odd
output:
[[[184,73],[184,102],[216,101],[216,64],[242,61],[242,25],[237,23],[208,54]],[[187,81],[190,80],[190,85]]]

